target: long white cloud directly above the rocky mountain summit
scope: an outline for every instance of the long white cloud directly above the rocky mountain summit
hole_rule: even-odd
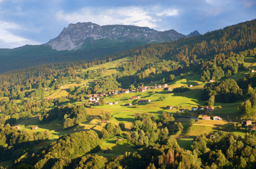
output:
[[[157,17],[155,18],[155,16]],[[66,20],[69,23],[88,22],[99,25],[122,24],[148,26],[155,28],[157,21],[160,21],[160,16],[178,15],[176,9],[150,8],[144,9],[141,7],[113,7],[113,8],[82,8],[78,12],[66,14],[64,11],[59,11],[56,14],[58,21]]]

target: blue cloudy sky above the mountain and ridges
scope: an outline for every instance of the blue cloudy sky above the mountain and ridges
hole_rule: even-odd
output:
[[[204,34],[256,19],[256,0],[0,0],[0,48],[41,45],[70,23]]]

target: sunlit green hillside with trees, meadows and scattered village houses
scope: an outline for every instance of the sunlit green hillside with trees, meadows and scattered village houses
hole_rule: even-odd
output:
[[[252,20],[1,74],[0,164],[255,168],[255,33]]]

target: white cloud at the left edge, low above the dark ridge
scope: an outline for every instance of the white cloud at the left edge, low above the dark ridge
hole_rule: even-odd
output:
[[[11,30],[24,30],[20,25],[0,21],[0,48],[15,48],[24,45],[39,45],[40,42],[32,41],[12,34]]]

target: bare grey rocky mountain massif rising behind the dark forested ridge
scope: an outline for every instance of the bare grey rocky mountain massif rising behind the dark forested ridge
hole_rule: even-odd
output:
[[[132,26],[132,25],[105,25],[93,23],[69,24],[58,37],[50,39],[44,45],[50,45],[57,51],[78,50],[91,47],[115,46],[127,41],[139,41],[143,43],[175,41],[181,37],[187,38],[199,35],[197,31],[184,35],[175,30],[159,32],[157,30]]]

